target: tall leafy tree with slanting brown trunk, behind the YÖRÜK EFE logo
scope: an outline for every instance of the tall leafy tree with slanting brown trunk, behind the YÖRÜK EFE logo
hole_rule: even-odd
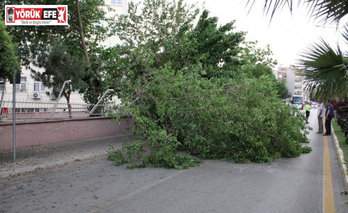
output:
[[[36,58],[44,52],[46,46],[59,39],[69,47],[70,55],[84,57],[89,63],[83,79],[88,87],[80,89],[84,100],[96,103],[102,88],[102,74],[99,72],[99,62],[96,53],[102,51],[100,42],[109,36],[109,27],[104,27],[101,21],[109,22],[114,17],[105,17],[105,8],[112,10],[104,0],[4,0],[0,8],[4,10],[5,4],[42,4],[42,5],[68,5],[67,26],[8,26],[10,35],[23,49],[25,65],[36,65]],[[83,25],[82,25],[83,23]]]

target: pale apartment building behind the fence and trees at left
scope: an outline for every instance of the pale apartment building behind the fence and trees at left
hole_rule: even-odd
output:
[[[111,6],[115,11],[106,11],[107,17],[112,17],[115,14],[126,14],[127,12],[127,1],[126,0],[106,0],[106,3]],[[117,22],[118,20],[114,20]],[[99,24],[107,25],[100,21]],[[119,43],[120,40],[116,35],[113,35],[107,38],[101,43],[105,47],[114,46],[116,43]],[[43,70],[37,71],[42,72]],[[68,80],[68,79],[67,79]],[[18,108],[18,112],[46,112],[49,110],[44,106],[44,103],[54,103],[57,101],[57,97],[51,92],[51,88],[47,88],[42,84],[40,79],[35,79],[31,75],[31,71],[22,67],[21,70],[21,79],[20,84],[15,84],[15,100],[22,103],[22,107]],[[13,85],[9,83],[8,80],[0,78],[0,109],[1,114],[11,111],[10,108],[6,107],[6,103],[9,103],[13,100]],[[64,102],[64,98],[61,99]],[[70,97],[71,102],[83,103],[82,96],[78,92],[74,92]],[[26,106],[25,103],[32,103],[30,106]],[[34,103],[34,105],[33,105]],[[37,103],[35,105],[35,103]],[[16,110],[17,112],[17,110]]]

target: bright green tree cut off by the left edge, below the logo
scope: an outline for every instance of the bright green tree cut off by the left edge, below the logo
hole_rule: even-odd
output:
[[[17,56],[17,45],[6,31],[5,22],[0,18],[0,78],[9,79],[20,72],[21,66]]]

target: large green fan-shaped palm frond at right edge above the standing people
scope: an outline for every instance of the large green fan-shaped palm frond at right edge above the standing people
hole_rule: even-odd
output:
[[[300,54],[299,76],[305,77],[305,92],[314,97],[330,99],[342,96],[348,90],[348,58],[337,45],[333,49],[323,39]]]

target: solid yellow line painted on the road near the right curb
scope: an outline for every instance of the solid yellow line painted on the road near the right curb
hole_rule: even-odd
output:
[[[331,180],[330,154],[327,137],[328,136],[324,136],[323,209],[324,213],[335,213],[334,193]]]

